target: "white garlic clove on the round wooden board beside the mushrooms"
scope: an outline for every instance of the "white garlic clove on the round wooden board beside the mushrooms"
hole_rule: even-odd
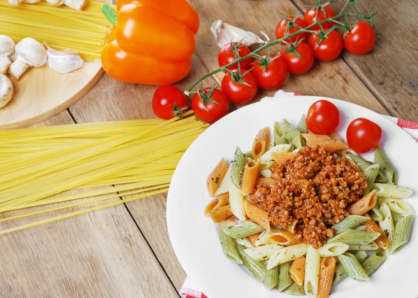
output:
[[[82,68],[84,65],[83,59],[77,52],[70,52],[68,50],[56,51],[47,47],[48,66],[61,74],[67,74]]]

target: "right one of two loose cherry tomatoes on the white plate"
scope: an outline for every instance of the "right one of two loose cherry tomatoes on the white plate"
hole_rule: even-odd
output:
[[[382,129],[365,118],[353,120],[347,129],[348,145],[359,153],[376,149],[382,141]]]

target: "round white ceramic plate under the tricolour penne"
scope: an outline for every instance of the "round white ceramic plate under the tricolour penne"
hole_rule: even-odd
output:
[[[171,180],[167,203],[167,225],[173,249],[185,272],[201,284],[209,298],[293,297],[277,290],[265,290],[263,283],[241,265],[227,260],[212,221],[203,216],[210,201],[206,178],[219,159],[231,162],[235,147],[251,149],[254,136],[274,121],[288,119],[296,125],[310,105],[324,97],[284,97],[257,102],[230,113],[203,132],[185,152]],[[327,98],[325,98],[327,99]],[[382,127],[382,148],[399,175],[399,185],[410,187],[415,194],[408,201],[418,211],[418,144],[407,133],[385,117],[341,100],[327,99],[341,113],[339,134],[346,135],[351,120],[368,118]],[[365,155],[373,160],[373,153]],[[410,242],[387,261],[370,281],[345,279],[333,287],[333,298],[348,297],[418,297],[418,221],[415,220]]]

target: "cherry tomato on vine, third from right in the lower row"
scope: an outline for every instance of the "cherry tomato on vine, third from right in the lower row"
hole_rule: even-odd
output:
[[[294,52],[288,52],[287,49],[281,50],[281,58],[286,63],[288,72],[292,75],[302,75],[314,65],[314,51],[304,42],[300,42],[294,50],[303,58]]]

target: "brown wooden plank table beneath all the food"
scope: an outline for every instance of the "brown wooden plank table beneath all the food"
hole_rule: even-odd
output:
[[[366,9],[371,1],[359,0],[359,6]],[[185,88],[217,68],[219,48],[209,31],[213,21],[222,19],[273,37],[279,15],[300,13],[303,2],[193,0],[201,29],[192,72],[178,86]],[[335,10],[342,5],[341,0],[332,4]],[[374,7],[378,10],[378,42],[370,54],[344,53],[329,63],[316,62],[306,75],[290,77],[284,90],[339,98],[418,121],[418,2],[375,1]],[[218,74],[205,85],[221,79]],[[123,84],[104,75],[77,104],[40,125],[152,118],[154,90],[154,86]],[[260,91],[257,99],[272,94]],[[167,235],[166,198],[154,196],[2,235],[1,296],[178,297],[186,275]]]

